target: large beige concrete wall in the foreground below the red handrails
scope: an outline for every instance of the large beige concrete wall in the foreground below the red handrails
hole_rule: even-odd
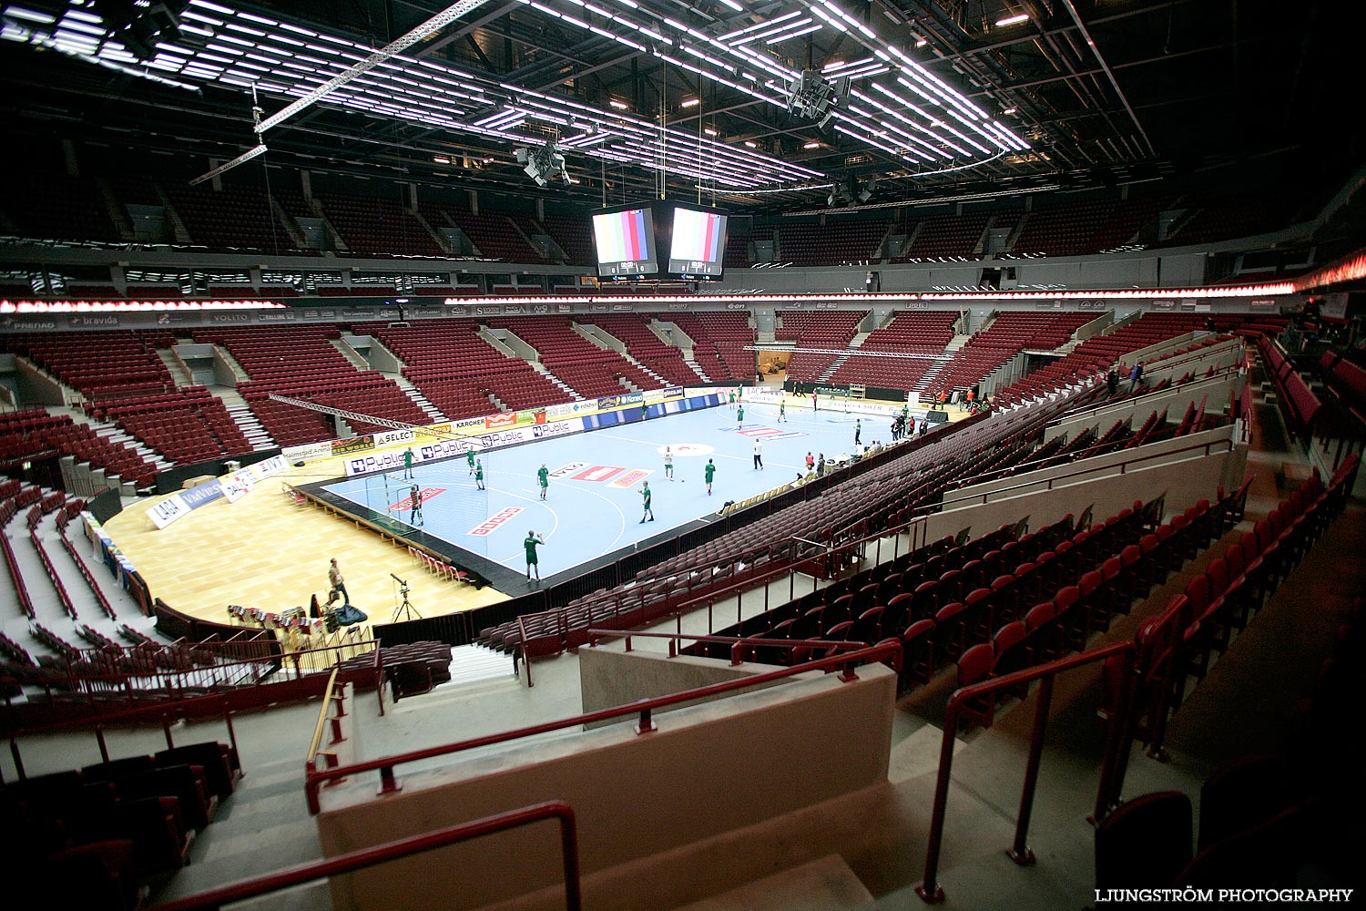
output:
[[[578,814],[583,873],[770,819],[885,783],[896,676],[811,675],[682,709],[637,735],[627,725],[538,738],[406,774],[377,798],[374,773],[322,794],[324,854],[549,799]],[[553,822],[332,880],[337,911],[459,911],[560,882]]]

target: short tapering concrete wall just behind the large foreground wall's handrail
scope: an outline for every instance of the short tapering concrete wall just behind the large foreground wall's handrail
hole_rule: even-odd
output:
[[[579,649],[579,692],[583,699],[583,712],[597,712],[619,705],[630,705],[641,699],[672,695],[684,690],[724,683],[736,677],[747,677],[755,673],[772,671],[770,665],[738,664],[729,665],[725,661],[713,658],[694,658],[680,654],[675,658],[664,657],[654,651],[619,651],[616,646],[598,649]],[[758,684],[755,688],[765,688],[773,684]],[[751,690],[744,690],[751,692]],[[717,698],[680,702],[668,709],[676,712],[690,705],[712,702]],[[608,724],[623,724],[630,718],[613,718],[589,724],[589,728],[601,728]]]

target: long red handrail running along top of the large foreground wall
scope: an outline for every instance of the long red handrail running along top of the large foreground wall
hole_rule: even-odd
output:
[[[462,753],[464,750],[473,750],[475,747],[492,746],[494,743],[507,743],[510,740],[519,740],[522,738],[529,738],[537,733],[546,733],[549,731],[561,731],[564,728],[574,728],[579,725],[593,724],[596,721],[607,721],[609,718],[620,718],[628,714],[639,713],[641,721],[637,728],[638,732],[653,731],[654,724],[650,720],[650,714],[654,709],[661,709],[680,702],[690,702],[693,699],[701,699],[712,695],[721,695],[731,692],[732,690],[743,690],[753,687],[757,683],[768,683],[770,680],[781,680],[784,677],[791,677],[798,673],[807,673],[810,671],[821,671],[824,668],[843,668],[844,672],[840,675],[840,680],[856,680],[854,675],[854,667],[863,661],[900,661],[902,643],[897,639],[884,639],[874,646],[867,649],[859,649],[858,651],[850,651],[847,654],[837,654],[826,658],[817,658],[814,661],[807,661],[806,664],[799,664],[791,668],[779,668],[775,671],[768,671],[765,673],[755,673],[747,677],[738,677],[735,680],[724,680],[721,683],[710,683],[703,687],[695,687],[693,690],[683,690],[682,692],[672,692],[664,697],[656,697],[653,699],[641,699],[630,705],[620,705],[611,709],[598,709],[597,712],[587,712],[585,714],[578,714],[570,718],[560,718],[559,721],[545,721],[542,724],[533,724],[525,728],[516,728],[514,731],[504,731],[503,733],[488,733],[479,738],[470,738],[469,740],[458,740],[455,743],[447,743],[438,747],[428,747],[425,750],[413,750],[410,753],[400,753],[393,757],[384,757],[380,759],[367,759],[365,762],[355,762],[348,766],[339,766],[336,769],[321,769],[305,773],[303,789],[305,796],[309,803],[309,813],[317,815],[321,813],[322,807],[318,803],[318,789],[325,781],[332,781],[335,779],[344,779],[348,776],[359,774],[362,772],[380,772],[380,792],[389,794],[393,791],[400,791],[402,785],[393,777],[393,768],[404,762],[421,762],[422,759],[432,759],[436,757],[451,755],[454,753]]]

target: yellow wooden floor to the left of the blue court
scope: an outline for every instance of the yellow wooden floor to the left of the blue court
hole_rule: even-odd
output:
[[[152,594],[187,616],[228,621],[227,608],[239,604],[280,612],[307,606],[309,597],[328,594],[328,560],[337,559],[351,604],[385,623],[399,604],[391,572],[408,582],[408,597],[423,616],[470,611],[507,595],[490,587],[449,582],[430,575],[403,544],[284,496],[285,483],[342,477],[342,459],[291,466],[258,483],[250,493],[194,509],[157,530],[146,516],[161,497],[148,497],[109,519],[104,529],[146,579]]]

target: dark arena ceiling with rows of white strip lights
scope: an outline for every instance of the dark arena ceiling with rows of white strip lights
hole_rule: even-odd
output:
[[[11,135],[199,161],[262,142],[283,167],[585,205],[701,193],[824,208],[836,186],[836,205],[865,191],[891,205],[1273,158],[1280,175],[1341,179],[1359,156],[1354,81],[1337,71],[1347,31],[1311,1],[464,0],[430,23],[449,10],[8,3],[0,107]],[[414,30],[402,53],[257,130]],[[803,70],[850,76],[824,128],[790,111]],[[516,163],[549,141],[567,186],[538,187]]]

